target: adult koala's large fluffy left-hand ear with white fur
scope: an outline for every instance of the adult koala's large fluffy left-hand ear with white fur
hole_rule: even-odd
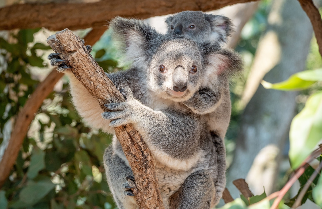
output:
[[[116,17],[110,22],[112,39],[116,41],[118,53],[123,64],[145,68],[148,47],[158,33],[151,26],[136,19]]]

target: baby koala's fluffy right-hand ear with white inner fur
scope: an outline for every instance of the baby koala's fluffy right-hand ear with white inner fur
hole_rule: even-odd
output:
[[[234,32],[231,19],[222,15],[204,14],[209,22],[212,32],[211,40],[219,40],[226,43],[227,38]]]

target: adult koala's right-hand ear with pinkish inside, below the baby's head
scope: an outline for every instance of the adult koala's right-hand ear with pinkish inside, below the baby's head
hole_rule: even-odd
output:
[[[204,56],[206,58],[206,77],[211,77],[214,73],[218,76],[231,77],[242,72],[243,62],[238,53],[217,46],[207,50]]]

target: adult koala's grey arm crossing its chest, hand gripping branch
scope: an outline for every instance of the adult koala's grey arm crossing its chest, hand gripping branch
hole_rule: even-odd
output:
[[[195,157],[200,138],[200,124],[195,114],[172,109],[155,111],[136,100],[129,88],[123,89],[122,93],[127,101],[108,104],[111,112],[102,114],[105,119],[112,120],[110,126],[132,123],[150,151],[159,159],[178,160],[181,163]]]

